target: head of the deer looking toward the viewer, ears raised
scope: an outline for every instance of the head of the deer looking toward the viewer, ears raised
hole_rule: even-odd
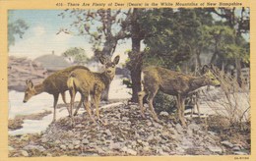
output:
[[[107,60],[105,57],[100,57],[99,62],[104,65],[104,74],[113,79],[115,75],[115,66],[118,64],[120,59],[120,56],[117,55],[114,60],[111,62],[110,60]]]

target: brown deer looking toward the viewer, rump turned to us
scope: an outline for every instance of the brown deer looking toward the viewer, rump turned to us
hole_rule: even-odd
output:
[[[89,103],[89,95],[91,96],[92,103],[96,106],[96,117],[99,119],[98,104],[100,101],[100,95],[102,91],[109,86],[110,82],[113,80],[115,75],[115,66],[118,64],[120,57],[116,56],[114,61],[106,60],[104,57],[99,58],[99,62],[104,65],[104,71],[102,73],[94,73],[88,70],[77,69],[74,70],[67,81],[70,93],[71,93],[71,102],[70,102],[70,112],[71,120],[73,122],[73,106],[75,95],[77,92],[81,93],[81,101],[85,106],[90,118],[94,121],[95,119],[92,116],[92,111]],[[75,111],[77,114],[79,107]]]

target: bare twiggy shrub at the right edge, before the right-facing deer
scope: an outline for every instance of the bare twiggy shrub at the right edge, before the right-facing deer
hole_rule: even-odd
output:
[[[206,103],[217,115],[226,117],[230,126],[244,129],[244,125],[248,125],[244,123],[250,123],[249,90],[224,72],[216,75],[221,81],[221,88],[217,92],[203,92],[207,97]]]

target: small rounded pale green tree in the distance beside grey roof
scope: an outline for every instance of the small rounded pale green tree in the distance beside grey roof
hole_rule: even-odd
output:
[[[85,64],[89,61],[85,49],[81,47],[72,47],[62,53],[62,56],[73,58],[75,64]]]

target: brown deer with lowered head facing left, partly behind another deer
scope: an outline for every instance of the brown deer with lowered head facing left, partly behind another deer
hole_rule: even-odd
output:
[[[87,67],[84,66],[73,66],[66,68],[64,70],[57,71],[47,77],[42,83],[33,85],[32,80],[26,80],[27,89],[25,91],[25,96],[23,102],[28,102],[32,96],[40,94],[41,92],[47,92],[53,95],[53,121],[56,121],[56,105],[58,102],[59,94],[61,93],[63,102],[67,105],[65,98],[65,91],[68,90],[67,80],[70,73],[76,69],[83,69],[85,71],[89,71]],[[80,101],[78,106],[81,106],[82,102]],[[69,108],[67,106],[68,112],[70,114]]]

